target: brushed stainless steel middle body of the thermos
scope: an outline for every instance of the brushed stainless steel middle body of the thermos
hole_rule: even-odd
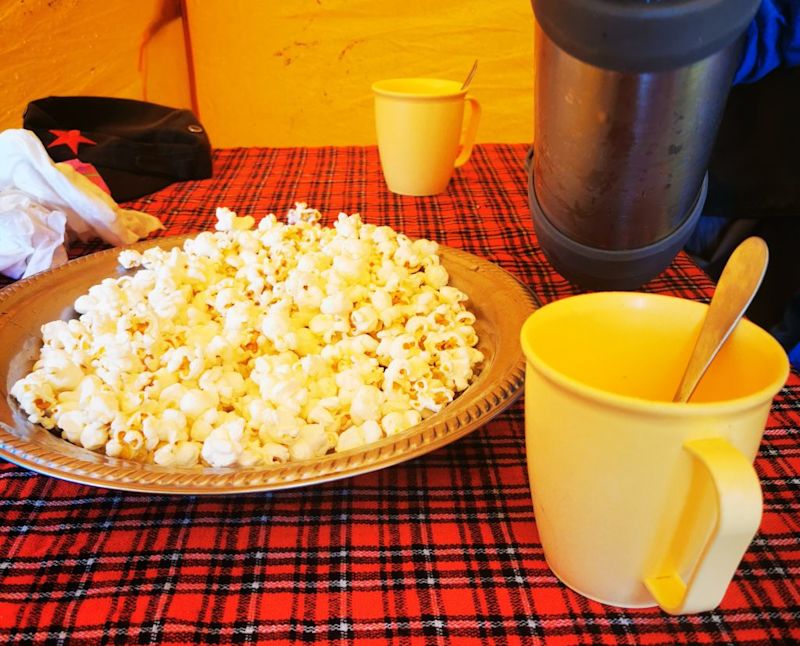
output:
[[[533,181],[550,221],[602,249],[675,231],[698,200],[740,51],[736,40],[678,69],[618,72],[538,28]]]

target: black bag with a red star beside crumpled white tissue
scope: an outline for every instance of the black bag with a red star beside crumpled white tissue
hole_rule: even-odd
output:
[[[117,202],[211,177],[211,143],[190,110],[133,99],[63,96],[28,104],[23,128],[56,161],[94,166]]]

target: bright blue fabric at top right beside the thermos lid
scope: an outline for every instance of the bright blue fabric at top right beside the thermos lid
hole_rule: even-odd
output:
[[[762,0],[747,28],[734,85],[753,83],[778,67],[800,65],[800,0]]]

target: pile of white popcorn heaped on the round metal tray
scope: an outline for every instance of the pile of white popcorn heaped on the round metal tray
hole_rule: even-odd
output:
[[[438,245],[298,203],[217,209],[183,248],[123,250],[132,275],[42,326],[11,394],[87,449],[164,466],[252,466],[400,433],[470,384],[483,355]]]

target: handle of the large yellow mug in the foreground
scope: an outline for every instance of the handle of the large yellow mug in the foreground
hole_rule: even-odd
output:
[[[719,605],[758,530],[763,502],[753,465],[727,440],[689,440],[683,448],[711,479],[717,524],[688,582],[677,570],[645,579],[656,603],[671,615],[704,612]]]

